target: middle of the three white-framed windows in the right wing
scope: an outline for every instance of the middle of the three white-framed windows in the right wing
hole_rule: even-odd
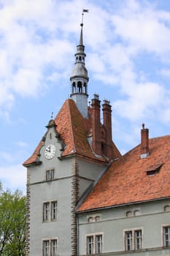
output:
[[[130,235],[129,237],[127,235]],[[143,248],[143,228],[123,230],[123,241],[125,252],[140,251]]]

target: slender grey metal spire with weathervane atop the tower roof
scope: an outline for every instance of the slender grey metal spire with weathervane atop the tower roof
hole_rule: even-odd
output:
[[[88,118],[88,70],[85,67],[85,46],[83,45],[82,27],[83,27],[83,15],[88,10],[82,10],[82,23],[80,24],[80,41],[77,45],[77,53],[75,53],[75,64],[70,77],[72,91],[71,99],[77,105],[77,108],[82,113],[82,116]]]

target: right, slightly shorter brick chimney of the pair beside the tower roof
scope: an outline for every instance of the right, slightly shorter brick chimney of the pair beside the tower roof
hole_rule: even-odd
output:
[[[106,141],[105,141],[105,155],[112,158],[112,106],[109,105],[109,100],[104,100],[103,106],[103,118],[104,127],[106,129]]]

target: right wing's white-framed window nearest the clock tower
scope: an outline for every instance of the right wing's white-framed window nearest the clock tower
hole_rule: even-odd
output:
[[[99,240],[97,240],[97,238],[99,238]],[[85,235],[85,245],[86,245],[85,255],[95,255],[95,254],[103,253],[104,252],[104,233],[91,233],[91,234]]]

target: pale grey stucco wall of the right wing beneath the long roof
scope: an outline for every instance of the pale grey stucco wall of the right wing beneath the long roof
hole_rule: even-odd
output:
[[[86,254],[87,234],[103,233],[103,252],[109,255],[125,255],[123,233],[125,230],[141,229],[143,233],[142,255],[167,255],[170,249],[163,250],[163,225],[170,225],[170,212],[164,212],[163,206],[169,200],[143,203],[135,206],[122,206],[103,211],[92,211],[91,214],[79,214],[79,252]],[[126,217],[126,212],[139,211],[138,216]],[[133,214],[134,215],[134,214]],[[89,217],[99,216],[100,220],[88,222]],[[161,247],[161,248],[160,248]],[[147,251],[146,251],[147,249]],[[139,255],[139,252],[127,255]]]

